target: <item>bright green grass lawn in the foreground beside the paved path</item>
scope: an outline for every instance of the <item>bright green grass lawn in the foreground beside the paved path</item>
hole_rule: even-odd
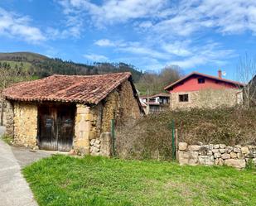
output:
[[[39,205],[256,205],[254,170],[51,156],[23,174]]]

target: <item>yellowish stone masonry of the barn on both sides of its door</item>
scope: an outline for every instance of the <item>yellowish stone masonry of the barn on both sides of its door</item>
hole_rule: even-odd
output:
[[[42,104],[43,102],[41,102]],[[20,146],[36,148],[38,102],[7,100],[7,135]],[[78,155],[111,155],[111,120],[141,116],[132,84],[126,80],[99,103],[76,103],[73,147]]]

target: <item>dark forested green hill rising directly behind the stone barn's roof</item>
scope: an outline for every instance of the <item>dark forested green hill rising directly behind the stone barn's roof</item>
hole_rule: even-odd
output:
[[[22,68],[30,71],[36,78],[52,74],[108,74],[129,71],[133,74],[134,82],[142,77],[142,71],[133,65],[125,63],[94,63],[93,65],[79,64],[72,61],[51,59],[45,55],[31,52],[0,53],[0,66],[4,68]]]

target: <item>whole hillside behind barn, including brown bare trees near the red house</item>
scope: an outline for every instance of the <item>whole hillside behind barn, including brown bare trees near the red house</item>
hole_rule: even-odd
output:
[[[0,66],[3,69],[28,71],[32,79],[41,79],[52,74],[93,75],[128,71],[133,74],[134,84],[141,95],[146,94],[147,91],[149,94],[164,92],[164,86],[183,76],[183,71],[176,66],[142,72],[135,66],[123,62],[94,62],[92,65],[85,65],[31,52],[0,53]]]

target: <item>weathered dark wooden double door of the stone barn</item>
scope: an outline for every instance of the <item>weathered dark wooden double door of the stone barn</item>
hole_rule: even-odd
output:
[[[44,105],[38,108],[39,148],[70,151],[75,126],[74,105]]]

